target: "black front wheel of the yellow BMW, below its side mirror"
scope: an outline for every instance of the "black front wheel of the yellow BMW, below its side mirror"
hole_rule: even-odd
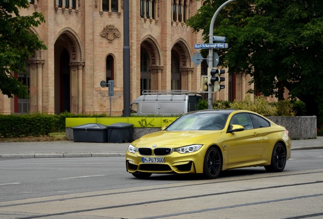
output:
[[[203,174],[208,179],[215,179],[222,170],[222,157],[218,149],[209,148],[204,157]]]

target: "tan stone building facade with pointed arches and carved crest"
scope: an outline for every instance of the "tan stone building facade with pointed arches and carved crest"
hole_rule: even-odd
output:
[[[195,0],[31,0],[20,15],[41,12],[45,23],[31,31],[47,50],[26,60],[29,75],[15,75],[29,86],[29,99],[0,94],[0,114],[110,112],[108,89],[114,81],[113,115],[123,109],[123,4],[130,8],[131,101],[143,90],[200,90],[206,61],[196,66],[193,45],[204,43],[185,20],[203,1]],[[243,99],[245,77],[225,74],[225,89],[214,99]]]

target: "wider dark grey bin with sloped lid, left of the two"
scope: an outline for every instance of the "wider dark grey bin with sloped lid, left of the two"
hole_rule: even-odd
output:
[[[99,123],[88,123],[75,126],[73,129],[74,141],[78,142],[108,142],[107,126]]]

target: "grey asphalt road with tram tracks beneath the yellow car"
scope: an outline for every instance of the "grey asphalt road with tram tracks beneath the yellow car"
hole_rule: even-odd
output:
[[[124,157],[0,159],[1,218],[323,218],[323,150],[263,167],[138,179]],[[301,217],[299,217],[301,216]]]

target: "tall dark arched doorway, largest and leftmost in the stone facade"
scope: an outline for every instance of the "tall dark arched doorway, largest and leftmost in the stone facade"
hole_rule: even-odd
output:
[[[83,112],[82,51],[75,34],[63,31],[54,44],[54,112]]]

